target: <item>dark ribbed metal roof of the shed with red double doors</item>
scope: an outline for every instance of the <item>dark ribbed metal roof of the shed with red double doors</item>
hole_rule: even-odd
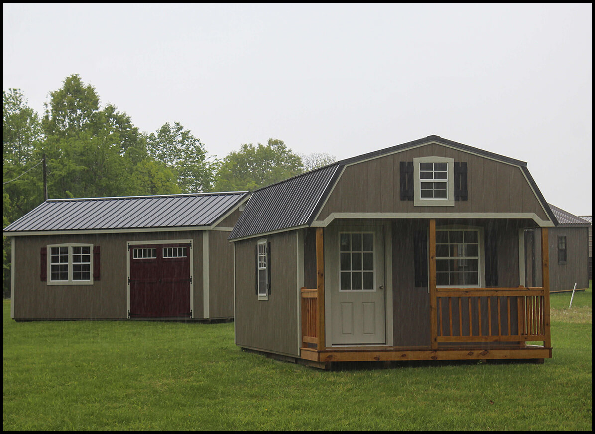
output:
[[[248,191],[166,196],[50,199],[4,229],[11,232],[205,227]]]

